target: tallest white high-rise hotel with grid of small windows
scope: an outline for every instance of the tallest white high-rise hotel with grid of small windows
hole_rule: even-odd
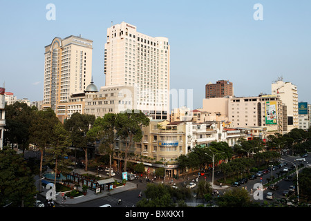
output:
[[[169,54],[166,37],[144,35],[124,21],[107,28],[106,86],[133,86],[132,108],[153,119],[169,119]]]

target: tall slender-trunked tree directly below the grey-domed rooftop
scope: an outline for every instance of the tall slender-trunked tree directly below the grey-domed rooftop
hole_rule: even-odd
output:
[[[65,123],[65,128],[70,132],[70,138],[75,148],[82,148],[85,156],[85,171],[88,171],[88,143],[92,137],[88,137],[88,131],[95,122],[95,115],[73,113]]]

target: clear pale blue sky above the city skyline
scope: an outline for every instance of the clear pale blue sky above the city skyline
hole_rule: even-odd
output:
[[[55,4],[55,21],[46,5]],[[263,20],[253,18],[256,3]],[[0,84],[17,99],[43,99],[44,46],[54,37],[93,40],[93,80],[104,86],[106,28],[126,21],[152,37],[168,37],[171,89],[193,90],[202,107],[205,84],[228,79],[234,95],[271,93],[282,76],[311,103],[311,1],[3,1]],[[185,102],[187,104],[187,102]]]

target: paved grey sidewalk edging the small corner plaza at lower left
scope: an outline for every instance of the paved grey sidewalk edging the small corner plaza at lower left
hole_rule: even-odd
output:
[[[79,174],[86,173],[83,169],[75,169],[74,172],[79,173]],[[93,173],[91,171],[88,171],[87,173],[96,175],[95,173]],[[114,178],[114,179],[120,181],[119,179],[116,179],[116,178]],[[56,194],[56,200],[53,200],[53,201],[57,204],[62,204],[62,205],[79,204],[79,203],[88,202],[91,200],[97,200],[100,198],[104,198],[108,195],[113,195],[116,193],[121,193],[121,192],[128,191],[131,189],[136,189],[136,188],[137,188],[137,184],[134,184],[133,182],[128,181],[128,182],[126,182],[125,186],[120,186],[120,187],[117,187],[117,188],[109,190],[109,191],[107,191],[105,189],[104,191],[102,191],[102,193],[95,193],[95,191],[88,189],[88,192],[86,195],[82,195],[82,196],[79,196],[79,197],[73,198],[73,199],[66,198],[66,200],[64,202],[62,202],[62,194],[57,193]],[[82,190],[82,186],[79,186],[78,189]],[[49,191],[48,189],[42,189],[42,192],[39,194],[42,195],[44,198],[46,198],[46,193],[48,191]]]

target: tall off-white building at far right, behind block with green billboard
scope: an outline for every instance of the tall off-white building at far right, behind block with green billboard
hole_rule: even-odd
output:
[[[277,95],[287,106],[288,132],[299,126],[298,92],[297,87],[291,82],[282,79],[274,81],[271,85],[272,95]]]

